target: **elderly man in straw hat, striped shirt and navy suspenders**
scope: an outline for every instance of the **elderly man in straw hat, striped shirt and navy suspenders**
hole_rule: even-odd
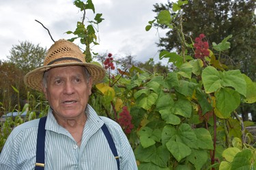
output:
[[[137,169],[122,128],[87,104],[104,69],[85,62],[78,46],[60,39],[44,66],[25,75],[25,84],[44,92],[47,117],[17,126],[0,156],[0,169]]]

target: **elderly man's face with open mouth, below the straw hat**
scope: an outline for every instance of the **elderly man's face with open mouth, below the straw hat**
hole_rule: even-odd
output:
[[[85,114],[92,80],[83,66],[56,67],[48,70],[44,95],[57,118],[72,119]]]

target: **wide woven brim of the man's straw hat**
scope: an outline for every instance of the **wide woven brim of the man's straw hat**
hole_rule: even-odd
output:
[[[37,69],[30,71],[25,75],[25,78],[24,78],[25,85],[34,90],[42,91],[42,78],[45,71],[52,69],[54,67],[64,67],[64,66],[74,66],[74,65],[81,65],[86,67],[91,75],[91,78],[93,78],[93,84],[98,84],[103,80],[105,76],[105,70],[102,67],[98,65],[94,65],[92,63],[62,63],[62,64],[60,63],[56,65],[39,67]]]

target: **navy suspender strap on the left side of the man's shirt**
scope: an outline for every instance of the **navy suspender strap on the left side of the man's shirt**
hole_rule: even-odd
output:
[[[44,169],[44,144],[45,144],[45,123],[46,116],[40,118],[38,124],[38,139],[36,143],[36,163],[35,170],[43,170]]]

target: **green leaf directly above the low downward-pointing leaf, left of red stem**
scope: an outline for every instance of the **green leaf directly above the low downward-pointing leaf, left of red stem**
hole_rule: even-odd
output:
[[[190,148],[198,149],[199,144],[197,143],[197,135],[193,131],[189,124],[181,124],[177,130],[176,141],[182,142]]]

